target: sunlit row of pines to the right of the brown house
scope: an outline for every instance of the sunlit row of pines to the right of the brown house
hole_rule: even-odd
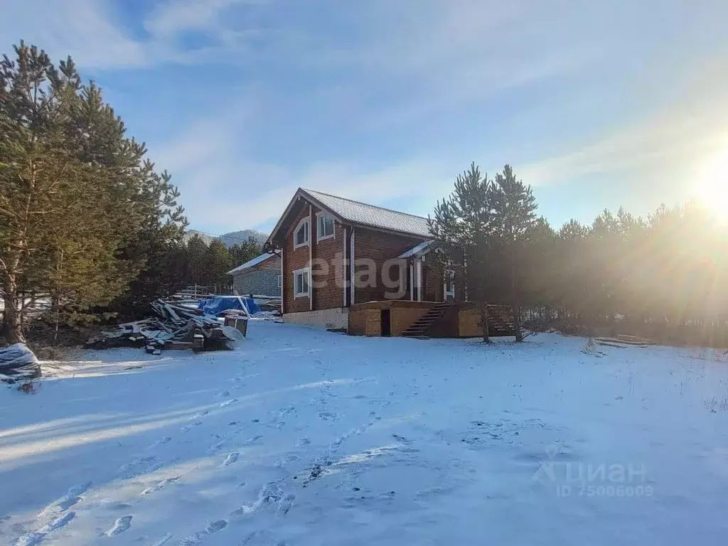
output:
[[[516,327],[728,347],[728,230],[705,207],[604,210],[558,229],[536,212],[508,165],[493,179],[471,165],[435,207],[430,231],[482,304],[486,339],[486,304],[509,304]]]

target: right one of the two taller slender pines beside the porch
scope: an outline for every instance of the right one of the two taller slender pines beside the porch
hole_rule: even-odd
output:
[[[536,221],[538,205],[531,186],[516,180],[510,165],[503,167],[503,172],[496,175],[494,196],[496,240],[499,243],[500,254],[508,264],[507,275],[510,275],[510,303],[513,309],[515,341],[523,341],[520,309],[521,269],[518,261],[523,254],[527,236]]]

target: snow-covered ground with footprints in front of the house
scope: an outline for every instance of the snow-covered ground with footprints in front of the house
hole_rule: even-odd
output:
[[[0,389],[0,543],[724,544],[728,363],[584,344],[87,353]]]

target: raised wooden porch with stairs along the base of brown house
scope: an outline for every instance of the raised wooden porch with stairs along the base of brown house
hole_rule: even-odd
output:
[[[488,305],[491,336],[515,336],[510,307]],[[369,301],[349,308],[353,336],[471,338],[483,336],[480,310],[467,301]]]

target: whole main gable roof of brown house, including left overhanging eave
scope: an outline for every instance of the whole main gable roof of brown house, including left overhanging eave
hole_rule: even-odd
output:
[[[385,231],[414,237],[432,237],[430,235],[430,228],[427,225],[427,218],[422,216],[368,205],[360,201],[325,194],[323,191],[298,188],[298,191],[296,191],[293,199],[291,199],[285,212],[271,232],[268,238],[269,242],[275,239],[277,232],[284,226],[286,217],[301,197],[314,203],[317,207],[332,213],[337,220],[343,223],[368,226],[373,229],[383,229]]]

